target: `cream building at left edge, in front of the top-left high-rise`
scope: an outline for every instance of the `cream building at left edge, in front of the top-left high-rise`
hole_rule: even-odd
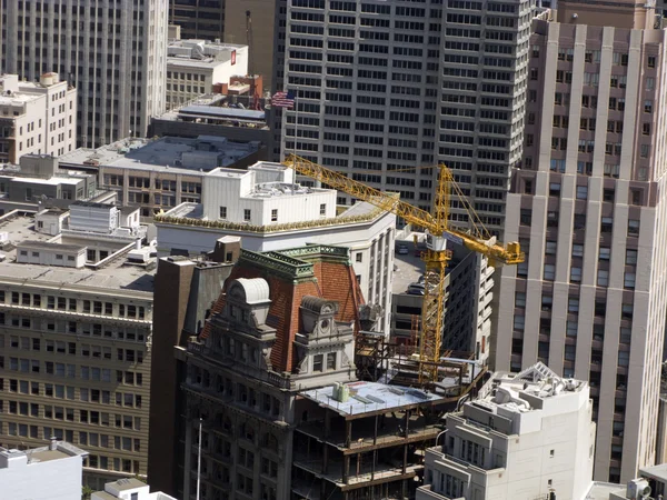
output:
[[[44,73],[39,82],[0,77],[0,162],[23,154],[60,156],[77,146],[77,91]]]

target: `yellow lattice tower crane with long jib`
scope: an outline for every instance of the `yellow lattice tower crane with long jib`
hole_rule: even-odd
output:
[[[525,259],[518,242],[504,247],[495,237],[482,238],[450,228],[448,222],[449,190],[456,187],[451,171],[439,166],[438,184],[432,213],[400,201],[395,196],[370,188],[349,179],[342,173],[329,170],[320,164],[290,154],[283,162],[296,172],[316,179],[334,189],[356,199],[367,201],[404,219],[407,223],[425,229],[426,262],[424,303],[421,306],[421,332],[419,341],[419,382],[426,384],[438,381],[438,363],[442,342],[442,322],[445,308],[445,270],[451,259],[447,250],[447,240],[465,244],[470,250],[487,256],[491,261],[517,264]],[[460,192],[460,191],[459,191]]]

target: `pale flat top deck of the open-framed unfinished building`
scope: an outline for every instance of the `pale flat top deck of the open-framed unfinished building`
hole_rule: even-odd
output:
[[[387,386],[378,382],[345,383],[350,390],[348,401],[334,399],[334,386],[300,392],[300,396],[336,410],[342,416],[370,413],[378,410],[398,409],[406,406],[437,402],[441,396],[401,386]]]

